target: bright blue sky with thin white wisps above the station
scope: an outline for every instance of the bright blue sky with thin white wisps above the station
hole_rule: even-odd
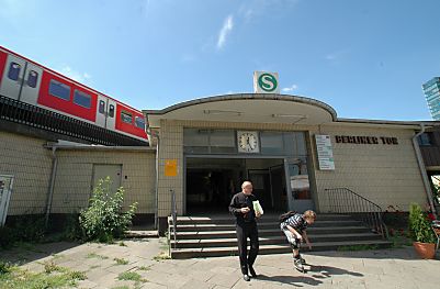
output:
[[[440,76],[438,0],[0,0],[0,45],[137,109],[282,93],[339,118],[431,120]]]

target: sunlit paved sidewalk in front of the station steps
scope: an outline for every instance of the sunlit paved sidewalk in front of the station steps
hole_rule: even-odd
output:
[[[241,279],[238,257],[163,259],[165,240],[127,240],[120,244],[54,243],[32,249],[1,251],[0,259],[22,262],[33,271],[44,262],[86,271],[78,288],[438,288],[439,256],[419,259],[413,247],[363,252],[317,252],[303,256],[309,271],[293,269],[290,254],[258,256],[257,279]],[[117,260],[124,260],[121,264]],[[137,273],[140,281],[119,280],[120,274]]]

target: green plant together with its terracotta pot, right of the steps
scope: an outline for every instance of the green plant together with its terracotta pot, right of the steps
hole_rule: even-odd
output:
[[[416,253],[424,259],[432,259],[436,255],[436,235],[427,214],[417,203],[410,204],[408,230]]]

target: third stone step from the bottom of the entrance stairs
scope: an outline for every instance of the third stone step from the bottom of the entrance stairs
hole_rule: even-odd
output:
[[[327,226],[327,227],[308,227],[307,234],[312,237],[313,235],[319,234],[331,234],[331,233],[368,233],[371,232],[370,229],[365,226]],[[262,236],[284,236],[283,232],[279,227],[273,229],[259,229],[258,235]],[[173,238],[174,233],[171,232],[171,238]],[[178,240],[189,240],[189,238],[230,238],[236,237],[235,230],[227,231],[190,231],[177,233]]]

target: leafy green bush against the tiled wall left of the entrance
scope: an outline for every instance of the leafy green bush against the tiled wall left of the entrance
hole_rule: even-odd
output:
[[[123,212],[124,189],[110,191],[110,178],[101,179],[93,189],[89,208],[79,214],[79,224],[86,241],[112,242],[120,237],[132,224],[137,203]]]

